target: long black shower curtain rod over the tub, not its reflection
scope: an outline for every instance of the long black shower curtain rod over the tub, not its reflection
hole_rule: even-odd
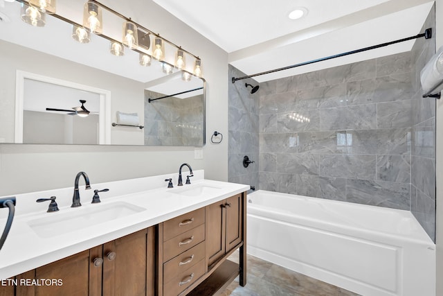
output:
[[[307,64],[314,64],[316,62],[323,62],[324,60],[332,60],[334,58],[340,58],[340,57],[343,57],[345,55],[352,55],[354,53],[361,53],[363,51],[370,51],[371,49],[378,49],[378,48],[383,47],[383,46],[388,46],[388,45],[396,44],[396,43],[399,43],[399,42],[405,42],[405,41],[408,41],[408,40],[413,40],[413,39],[417,39],[417,38],[421,38],[421,37],[425,37],[426,39],[431,38],[432,37],[432,28],[427,28],[424,31],[424,33],[421,33],[421,34],[418,34],[418,35],[415,35],[415,36],[412,36],[412,37],[407,37],[407,38],[404,38],[404,39],[400,39],[400,40],[395,40],[395,41],[386,42],[386,43],[382,43],[382,44],[378,44],[378,45],[374,45],[374,46],[369,46],[369,47],[365,47],[363,49],[356,49],[355,51],[347,51],[346,53],[338,53],[336,55],[329,55],[326,58],[319,58],[319,59],[316,59],[316,60],[310,60],[308,62],[301,62],[300,64],[293,64],[291,66],[282,67],[282,68],[278,68],[278,69],[274,69],[274,70],[270,70],[270,71],[264,71],[264,72],[256,73],[256,74],[253,74],[253,75],[242,76],[242,77],[239,77],[239,78],[233,77],[232,78],[232,82],[235,83],[235,81],[237,81],[237,80],[243,80],[243,79],[246,79],[246,78],[252,78],[252,77],[255,77],[255,76],[261,76],[261,75],[265,75],[265,74],[269,74],[269,73],[274,73],[274,72],[278,72],[278,71],[292,69],[292,68],[296,68],[296,67],[300,67],[300,66],[305,66]]]

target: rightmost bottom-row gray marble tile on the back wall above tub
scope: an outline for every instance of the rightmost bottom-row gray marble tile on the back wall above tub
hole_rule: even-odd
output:
[[[346,200],[393,209],[410,209],[410,185],[368,180],[347,180]]]

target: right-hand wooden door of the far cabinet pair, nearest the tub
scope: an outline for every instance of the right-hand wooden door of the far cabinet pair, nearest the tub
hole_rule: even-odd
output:
[[[226,252],[229,252],[242,241],[242,194],[226,200]]]

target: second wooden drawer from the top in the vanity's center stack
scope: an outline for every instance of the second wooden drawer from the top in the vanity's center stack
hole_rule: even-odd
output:
[[[163,243],[163,262],[169,261],[205,240],[205,225],[190,229]]]

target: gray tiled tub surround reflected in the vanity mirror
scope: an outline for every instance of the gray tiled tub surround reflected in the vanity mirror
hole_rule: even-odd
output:
[[[161,96],[145,90],[145,145],[203,145],[203,96],[148,102]]]

